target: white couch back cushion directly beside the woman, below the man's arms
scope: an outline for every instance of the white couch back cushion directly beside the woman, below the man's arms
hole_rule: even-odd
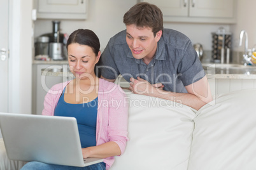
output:
[[[111,170],[187,170],[195,110],[143,95],[129,98],[127,147]]]

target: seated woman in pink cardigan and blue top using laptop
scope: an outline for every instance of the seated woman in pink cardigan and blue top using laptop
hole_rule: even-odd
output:
[[[48,91],[42,114],[76,117],[83,157],[104,158],[104,162],[87,167],[29,162],[22,170],[109,169],[113,156],[124,152],[128,106],[120,86],[96,76],[99,48],[99,39],[92,30],[78,29],[69,36],[68,62],[75,79],[56,84]]]

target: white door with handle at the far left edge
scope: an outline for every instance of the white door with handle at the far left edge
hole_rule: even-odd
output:
[[[8,2],[0,5],[0,112],[8,112]]]

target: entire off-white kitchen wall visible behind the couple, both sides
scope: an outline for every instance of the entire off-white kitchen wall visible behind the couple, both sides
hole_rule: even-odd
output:
[[[211,50],[211,32],[216,32],[219,27],[232,32],[232,47],[236,51],[243,51],[243,47],[238,48],[238,38],[241,30],[245,29],[249,36],[249,47],[256,44],[256,22],[255,22],[255,0],[235,0],[238,1],[234,11],[238,15],[236,24],[209,24],[209,23],[164,23],[165,28],[176,29],[186,34],[193,43],[200,42],[204,49]],[[60,27],[62,33],[70,34],[78,28],[92,29],[96,32],[101,41],[102,47],[106,46],[108,39],[125,29],[122,22],[124,13],[129,10],[137,0],[97,0],[89,1],[89,18],[87,20],[62,20]],[[51,20],[37,20],[35,22],[35,35],[40,36],[46,32],[52,32]]]

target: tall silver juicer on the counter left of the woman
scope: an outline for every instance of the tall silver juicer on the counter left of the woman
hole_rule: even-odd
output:
[[[48,37],[48,56],[52,60],[66,60],[66,39],[64,34],[60,32],[60,21],[52,21],[52,32],[43,34],[40,37]]]

